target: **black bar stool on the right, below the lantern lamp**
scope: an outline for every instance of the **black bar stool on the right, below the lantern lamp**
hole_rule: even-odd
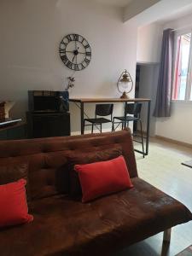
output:
[[[113,117],[113,128],[112,131],[115,131],[119,125],[122,125],[122,130],[124,127],[129,126],[129,122],[139,122],[140,123],[140,132],[141,132],[141,138],[142,141],[137,141],[134,139],[135,142],[141,143],[142,148],[143,148],[143,158],[145,157],[144,153],[144,143],[143,143],[143,128],[142,128],[142,120],[141,120],[141,110],[142,110],[142,103],[131,103],[131,104],[126,104],[125,105],[125,116],[120,116],[120,117]],[[118,121],[115,121],[117,119]],[[114,128],[114,125],[118,124],[116,128]],[[136,134],[133,133],[133,136],[136,136]],[[137,137],[140,137],[137,135]]]

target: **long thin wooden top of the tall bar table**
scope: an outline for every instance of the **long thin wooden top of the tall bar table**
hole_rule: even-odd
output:
[[[69,99],[69,102],[150,102],[150,99],[147,98],[130,98],[130,99],[121,99],[121,98],[72,98]]]

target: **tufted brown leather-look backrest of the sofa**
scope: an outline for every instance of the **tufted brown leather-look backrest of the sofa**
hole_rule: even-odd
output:
[[[31,198],[56,195],[69,189],[67,155],[121,146],[130,176],[137,177],[131,131],[115,131],[71,137],[49,137],[0,142],[0,166],[13,162],[29,165]]]

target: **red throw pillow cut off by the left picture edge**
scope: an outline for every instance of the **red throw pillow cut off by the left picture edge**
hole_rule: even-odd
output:
[[[26,203],[26,180],[0,185],[0,227],[31,222]]]

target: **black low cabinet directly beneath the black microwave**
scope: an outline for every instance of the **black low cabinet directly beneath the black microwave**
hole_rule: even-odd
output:
[[[60,137],[70,135],[69,113],[27,112],[28,137]]]

